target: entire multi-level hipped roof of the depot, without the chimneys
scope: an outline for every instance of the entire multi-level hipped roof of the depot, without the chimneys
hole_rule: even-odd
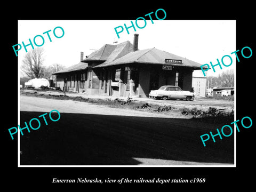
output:
[[[165,59],[170,60],[181,60],[181,63],[166,63]],[[130,41],[125,41],[116,45],[103,45],[99,50],[94,51],[78,64],[57,71],[53,74],[68,73],[71,71],[84,70],[88,68],[88,63],[92,61],[102,61],[100,65],[94,66],[93,68],[109,67],[116,65],[123,65],[129,63],[148,63],[156,65],[169,65],[169,66],[182,66],[192,67],[194,69],[201,69],[201,64],[191,61],[187,58],[174,55],[172,53],[158,50],[155,48],[138,50],[133,52],[133,44]],[[206,67],[203,67],[206,69]]]

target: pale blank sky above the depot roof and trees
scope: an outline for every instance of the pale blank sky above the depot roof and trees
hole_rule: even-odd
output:
[[[119,33],[117,37],[114,28],[118,26],[131,26],[131,20],[19,20],[18,21],[18,42],[17,44],[29,44],[36,35],[44,37],[45,50],[44,65],[50,66],[59,63],[65,67],[77,64],[80,61],[80,54],[90,55],[93,51],[100,49],[104,44],[113,42],[122,43],[130,41],[133,44],[133,34],[139,34],[139,50],[155,47],[156,49],[185,57],[200,64],[217,64],[224,55],[230,55],[233,64],[230,67],[217,66],[215,73],[212,69],[207,71],[207,76],[217,76],[222,71],[235,69],[236,51],[236,21],[235,20],[146,20],[145,28],[139,29],[135,26]],[[135,25],[135,21],[133,21]],[[139,20],[139,26],[144,25]],[[55,27],[62,27],[65,34],[61,38],[53,35]],[[45,31],[49,31],[52,42],[49,41]],[[119,29],[118,29],[119,30]],[[62,35],[60,29],[56,31],[57,36]],[[41,38],[36,38],[37,44],[42,44]],[[34,43],[33,43],[34,44]],[[34,45],[34,47],[36,47]],[[242,47],[241,47],[242,49]],[[32,50],[27,46],[27,50]],[[13,52],[15,55],[15,53]],[[26,54],[24,47],[18,51],[18,66]],[[171,59],[171,58],[168,58]],[[224,60],[225,61],[225,60]],[[230,61],[225,61],[229,63]],[[195,74],[203,75],[202,70],[195,70]],[[22,74],[21,74],[22,76]]]

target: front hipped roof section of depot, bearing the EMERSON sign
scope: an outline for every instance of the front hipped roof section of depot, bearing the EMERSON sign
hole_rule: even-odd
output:
[[[165,59],[181,60],[181,63],[166,63]],[[107,60],[100,65],[95,66],[94,68],[123,65],[128,63],[148,63],[156,65],[193,67],[195,69],[201,69],[200,63],[155,48],[130,52],[123,57],[115,59],[113,61]]]

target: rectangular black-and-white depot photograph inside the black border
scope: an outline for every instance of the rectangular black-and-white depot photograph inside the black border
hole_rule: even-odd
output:
[[[235,29],[234,20],[19,21],[20,166],[235,165],[233,131],[221,129],[235,121]],[[28,30],[39,34],[31,44]]]

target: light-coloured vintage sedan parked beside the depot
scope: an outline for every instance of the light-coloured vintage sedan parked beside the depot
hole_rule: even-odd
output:
[[[152,90],[149,93],[149,98],[156,99],[186,99],[191,100],[194,98],[194,93],[189,91],[183,91],[179,86],[173,85],[164,85],[161,86],[158,90]]]

